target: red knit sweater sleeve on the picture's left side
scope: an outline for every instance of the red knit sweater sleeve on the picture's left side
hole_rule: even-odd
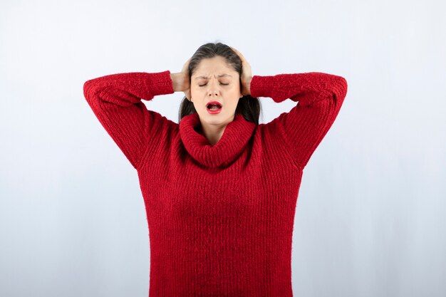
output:
[[[87,80],[85,99],[96,118],[135,169],[147,147],[156,142],[155,133],[167,118],[147,110],[141,99],[174,93],[170,71],[160,73],[117,73]]]

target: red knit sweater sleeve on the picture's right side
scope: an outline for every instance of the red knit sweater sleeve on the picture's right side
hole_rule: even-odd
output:
[[[304,169],[341,109],[346,79],[318,72],[254,75],[250,88],[253,97],[269,97],[276,103],[287,98],[298,102],[266,125],[280,135],[296,165]]]

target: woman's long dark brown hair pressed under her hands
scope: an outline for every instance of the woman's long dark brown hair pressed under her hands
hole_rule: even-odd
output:
[[[204,58],[214,58],[215,56],[222,56],[229,66],[234,68],[242,76],[242,60],[240,57],[232,51],[232,48],[223,43],[206,43],[200,46],[189,62],[189,81],[192,74],[196,70],[199,62]],[[242,90],[242,81],[240,80],[240,90]],[[261,110],[261,104],[259,98],[251,97],[250,95],[244,95],[239,99],[235,113],[243,115],[244,119],[259,125],[259,115]],[[187,100],[186,96],[182,99],[180,104],[180,110],[178,112],[178,122],[192,113],[197,113],[194,103]]]

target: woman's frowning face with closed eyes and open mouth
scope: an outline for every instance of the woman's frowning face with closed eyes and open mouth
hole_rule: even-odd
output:
[[[204,58],[195,68],[190,80],[190,92],[202,125],[227,125],[234,120],[240,92],[239,73],[224,58]],[[217,101],[222,108],[212,112],[209,102]]]

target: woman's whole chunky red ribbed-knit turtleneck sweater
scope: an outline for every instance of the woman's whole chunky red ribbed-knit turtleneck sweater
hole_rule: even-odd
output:
[[[254,75],[253,97],[298,102],[256,125],[237,115],[215,145],[141,99],[174,93],[170,71],[88,80],[84,95],[138,171],[150,236],[150,297],[292,296],[291,238],[304,167],[347,93],[327,73]]]

